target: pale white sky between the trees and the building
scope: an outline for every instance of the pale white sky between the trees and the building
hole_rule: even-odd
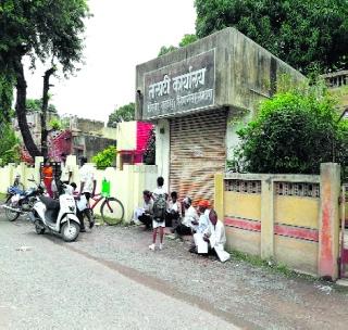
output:
[[[135,67],[195,33],[194,0],[89,0],[85,65],[75,77],[51,79],[60,114],[107,122],[115,107],[135,101]],[[45,66],[26,71],[27,98],[42,93]]]

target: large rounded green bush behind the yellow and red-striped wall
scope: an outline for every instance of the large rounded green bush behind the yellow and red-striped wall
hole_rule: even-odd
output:
[[[281,92],[263,101],[257,118],[238,132],[229,169],[319,174],[320,164],[348,164],[348,123],[321,86]]]

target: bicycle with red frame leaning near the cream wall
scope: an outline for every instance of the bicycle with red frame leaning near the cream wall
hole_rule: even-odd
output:
[[[90,206],[90,200],[94,201],[91,206]],[[91,221],[94,219],[94,208],[102,200],[104,201],[100,206],[101,219],[109,226],[114,226],[120,224],[124,217],[124,207],[122,202],[115,198],[104,196],[101,193],[96,193],[94,196],[90,196],[89,199],[88,208],[86,208],[84,212],[88,220]]]

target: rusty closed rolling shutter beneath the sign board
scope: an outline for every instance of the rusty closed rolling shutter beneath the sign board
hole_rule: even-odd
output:
[[[170,189],[213,203],[214,174],[225,169],[226,112],[171,119]]]

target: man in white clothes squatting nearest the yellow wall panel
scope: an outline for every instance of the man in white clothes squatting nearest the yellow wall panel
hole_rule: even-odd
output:
[[[229,259],[229,253],[225,251],[225,227],[222,221],[217,220],[217,214],[214,210],[209,213],[209,227],[206,232],[196,232],[194,240],[197,253],[215,254],[223,263]]]

